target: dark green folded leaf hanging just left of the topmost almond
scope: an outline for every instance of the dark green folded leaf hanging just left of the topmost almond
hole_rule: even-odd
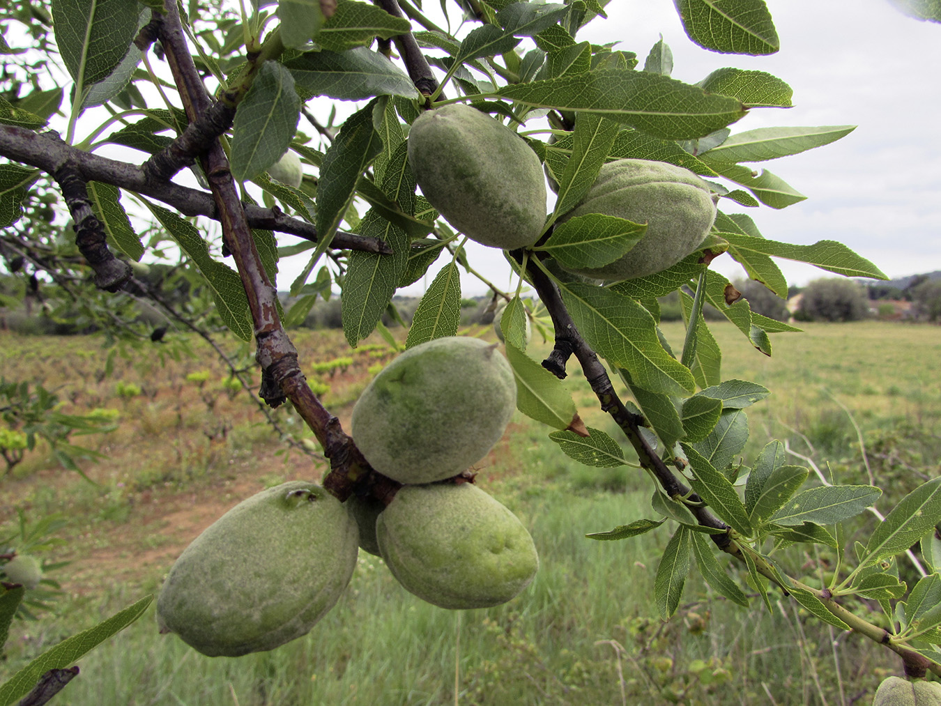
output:
[[[324,154],[317,187],[316,218],[321,243],[327,244],[324,247],[333,239],[333,233],[356,195],[359,176],[382,150],[382,140],[373,127],[374,106],[375,101],[371,101],[347,118]],[[381,189],[376,191],[387,199]]]

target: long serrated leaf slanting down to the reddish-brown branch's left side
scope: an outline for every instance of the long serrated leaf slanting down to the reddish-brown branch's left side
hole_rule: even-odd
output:
[[[212,258],[206,241],[190,221],[150,201],[141,201],[144,201],[154,217],[167,229],[167,233],[199,267],[202,276],[213,290],[215,311],[222,322],[243,341],[250,341],[254,327],[248,316],[248,297],[238,273],[229,265]]]

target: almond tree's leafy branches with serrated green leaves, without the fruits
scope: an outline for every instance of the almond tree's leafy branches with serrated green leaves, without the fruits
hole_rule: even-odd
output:
[[[675,5],[700,46],[726,54],[778,50],[763,0]],[[939,19],[929,3],[905,5],[922,19]],[[880,489],[831,485],[816,467],[789,464],[779,441],[769,440],[742,464],[746,410],[770,392],[722,377],[721,351],[702,316],[709,303],[741,330],[744,345],[763,355],[771,355],[774,334],[797,330],[752,312],[710,268],[717,257],[734,259],[778,297],[787,297],[788,287],[774,258],[885,279],[842,244],[769,240],[750,217],[736,213],[742,206],[780,209],[804,200],[773,172],[752,165],[821,147],[853,127],[748,129],[751,110],[790,105],[784,80],[726,68],[689,85],[670,77],[673,59],[662,41],[641,59],[580,40],[585,24],[606,17],[598,0],[459,0],[457,6],[447,8],[452,22],[442,27],[408,0],[280,0],[237,10],[222,2],[184,8],[162,0],[53,0],[51,14],[10,4],[8,36],[0,44],[7,88],[0,100],[0,155],[8,160],[0,165],[3,255],[76,287],[87,273],[104,292],[146,295],[149,287],[134,266],[148,258],[140,233],[162,229],[211,288],[229,329],[254,340],[260,398],[270,407],[290,401],[310,426],[330,461],[324,485],[342,501],[357,492],[388,503],[397,484],[370,468],[311,392],[284,320],[302,319],[316,297],[336,287],[349,345],[376,329],[389,336],[380,320],[396,290],[443,261],[408,335],[407,345],[419,345],[455,335],[457,275],[480,277],[507,302],[501,322],[507,358],[519,388],[530,391],[518,396],[519,409],[550,427],[560,453],[596,467],[633,462],[613,438],[582,424],[560,382],[580,367],[600,409],[649,474],[656,489],[650,518],[625,518],[590,537],[625,539],[671,528],[656,570],[662,618],[677,610],[693,554],[707,583],[729,601],[748,602],[733,578],[739,574],[729,573],[738,565],[769,609],[779,591],[822,621],[869,637],[874,648],[893,650],[907,676],[941,676],[935,647],[941,644],[935,572],[941,545],[934,529],[941,521],[941,479],[922,484],[883,516],[872,507]],[[467,22],[452,31],[461,17]],[[333,101],[360,102],[339,129],[332,124]],[[554,185],[554,207],[539,239],[505,251],[518,274],[515,291],[486,281],[462,234],[416,188],[409,125],[423,111],[452,103],[470,104],[518,131]],[[99,153],[104,145],[148,156],[106,157]],[[267,170],[285,152],[303,163],[299,186],[269,178]],[[566,275],[558,265],[611,263],[643,235],[644,224],[630,221],[604,231],[600,220],[582,228],[560,221],[602,165],[624,158],[676,165],[708,180],[720,202],[715,224],[693,253],[654,275],[617,282]],[[197,186],[173,180],[186,169]],[[24,213],[32,223],[56,194],[72,218],[77,252],[41,229],[22,227]],[[285,313],[274,284],[279,253],[305,249],[310,260],[290,287],[300,298]],[[524,283],[554,330],[544,361],[526,350],[532,309],[520,297]],[[672,292],[679,293],[686,324],[677,351],[658,328],[656,299]],[[866,511],[881,521],[866,542],[847,550],[840,523]],[[792,575],[769,555],[798,542],[837,553],[842,570],[829,585]],[[915,566],[921,578],[914,586],[900,580],[897,557]],[[22,587],[11,587],[2,605],[15,609],[16,591],[22,596]],[[55,693],[71,678],[63,667],[139,616],[148,601],[27,667],[0,686],[0,701],[22,696],[47,669],[37,689]],[[872,617],[873,604],[887,621]],[[888,629],[880,627],[884,622]]]

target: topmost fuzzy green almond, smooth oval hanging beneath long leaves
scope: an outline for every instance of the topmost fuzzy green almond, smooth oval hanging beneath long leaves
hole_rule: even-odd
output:
[[[546,222],[542,164],[522,137],[465,104],[425,111],[408,132],[422,193],[458,231],[492,248],[533,245]]]

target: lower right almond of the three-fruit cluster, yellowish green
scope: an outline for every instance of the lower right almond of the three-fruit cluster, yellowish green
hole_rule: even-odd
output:
[[[470,483],[404,486],[375,524],[398,582],[442,608],[486,608],[529,586],[539,557],[504,505]]]

